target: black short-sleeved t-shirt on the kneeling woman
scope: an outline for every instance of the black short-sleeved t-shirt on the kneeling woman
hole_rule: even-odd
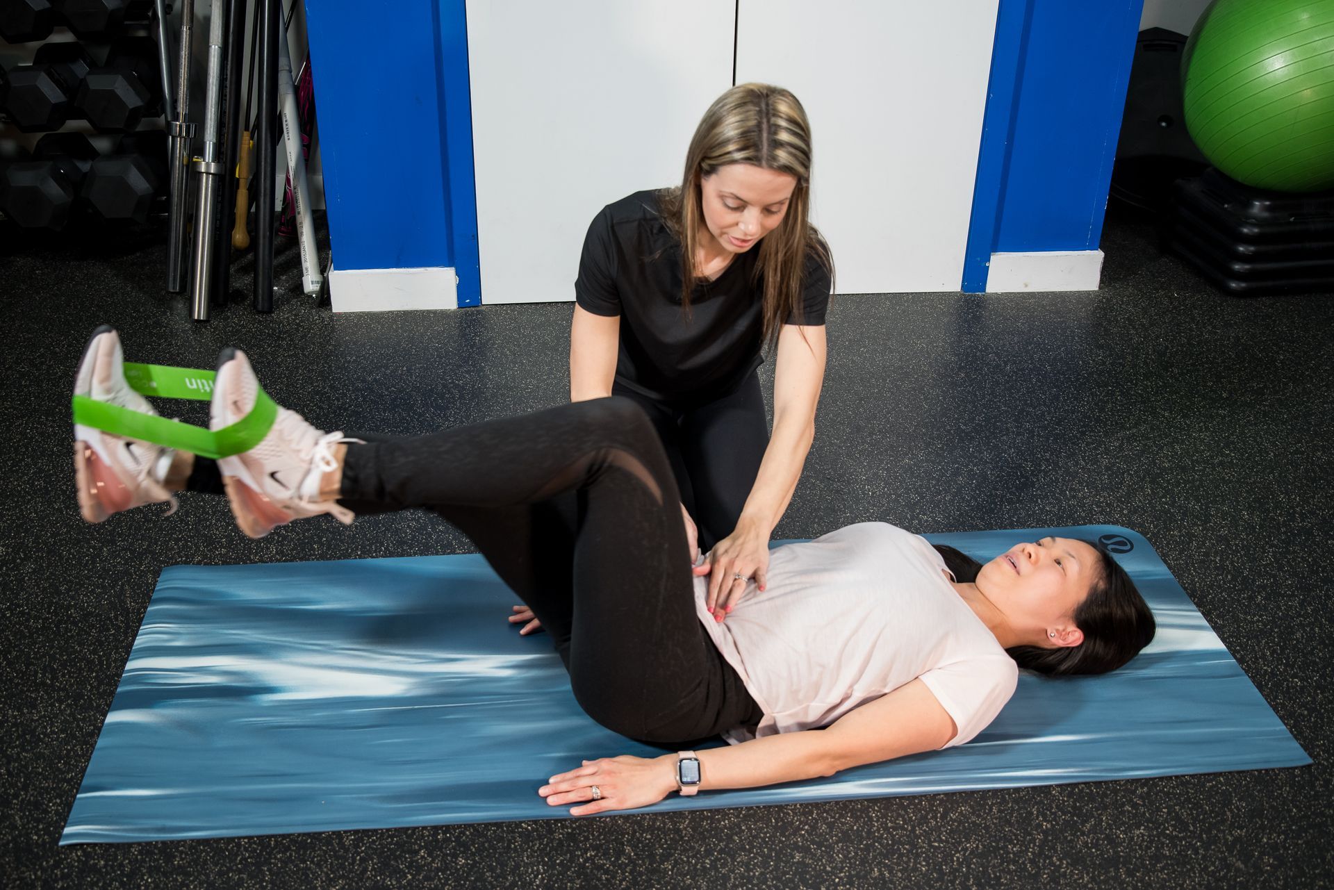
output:
[[[668,402],[731,392],[759,367],[763,280],[759,248],[736,256],[680,308],[680,243],[663,223],[658,192],[635,192],[594,217],[579,259],[575,299],[594,315],[620,316],[616,382]],[[806,260],[803,306],[788,324],[824,324],[830,275]]]

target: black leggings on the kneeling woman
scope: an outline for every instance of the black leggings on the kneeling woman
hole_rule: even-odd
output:
[[[620,383],[612,394],[648,414],[707,552],[736,528],[768,447],[759,375],[752,372],[732,392],[702,404],[671,404]]]

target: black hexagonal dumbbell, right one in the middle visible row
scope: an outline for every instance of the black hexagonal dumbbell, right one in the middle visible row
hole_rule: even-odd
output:
[[[112,44],[107,64],[87,73],[75,101],[103,132],[128,132],[145,115],[161,113],[161,73],[157,47],[149,37],[125,37]]]

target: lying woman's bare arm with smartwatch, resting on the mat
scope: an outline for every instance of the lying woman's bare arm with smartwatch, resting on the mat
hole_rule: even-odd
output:
[[[799,782],[896,757],[934,751],[955,733],[954,719],[916,679],[863,705],[823,730],[767,735],[699,751],[700,790],[750,789]],[[590,786],[602,791],[588,801]],[[551,777],[538,790],[552,806],[576,803],[571,815],[632,810],[676,790],[676,755],[614,757]]]

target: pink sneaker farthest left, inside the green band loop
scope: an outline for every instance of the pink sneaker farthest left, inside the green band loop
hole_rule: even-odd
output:
[[[103,324],[92,332],[79,360],[75,395],[156,415],[148,399],[129,388],[123,364],[120,338],[113,328]],[[76,423],[75,482],[79,488],[79,512],[88,522],[101,522],[123,510],[148,503],[169,503],[167,515],[171,515],[176,511],[176,498],[161,483],[161,474],[169,463],[168,448]]]

